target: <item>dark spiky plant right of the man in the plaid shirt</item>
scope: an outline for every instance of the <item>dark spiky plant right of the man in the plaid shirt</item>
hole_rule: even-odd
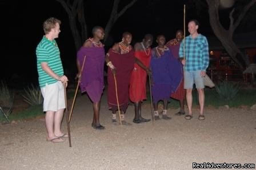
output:
[[[238,83],[232,83],[228,81],[219,82],[219,84],[215,86],[219,97],[226,101],[234,99],[239,91],[239,88],[240,86]]]

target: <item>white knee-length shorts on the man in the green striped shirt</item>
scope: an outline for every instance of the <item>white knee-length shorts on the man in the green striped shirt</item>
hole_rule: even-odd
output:
[[[66,108],[64,86],[61,82],[47,84],[41,88],[43,111],[58,111]]]

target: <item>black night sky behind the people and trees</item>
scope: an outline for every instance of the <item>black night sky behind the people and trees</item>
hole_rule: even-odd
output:
[[[62,21],[61,34],[57,42],[66,72],[71,70],[74,74],[76,51],[67,14],[58,2],[54,0],[0,0],[0,2],[1,29],[5,39],[1,55],[1,79],[10,79],[15,73],[23,76],[25,81],[37,82],[35,48],[43,36],[42,23],[49,17],[56,17]],[[127,0],[122,0],[124,4],[127,2]],[[146,33],[154,36],[164,34],[168,40],[174,38],[177,29],[183,29],[185,1],[155,0],[150,2],[153,4],[150,5],[149,0],[139,0],[118,19],[110,33],[114,42],[121,39],[124,31],[133,34],[134,43],[141,41]],[[89,30],[95,25],[105,27],[111,5],[112,1],[87,1],[85,13]],[[96,10],[97,8],[99,10]],[[187,10],[186,14],[187,20],[198,18],[195,10]],[[199,32],[206,36],[213,36],[208,19],[207,13],[200,16]]]

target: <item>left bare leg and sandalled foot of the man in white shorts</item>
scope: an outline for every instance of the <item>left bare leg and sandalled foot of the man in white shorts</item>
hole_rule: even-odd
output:
[[[63,141],[62,139],[56,139],[57,136],[54,134],[54,111],[47,111],[45,114],[45,124],[48,133],[47,140],[55,139],[54,141]]]

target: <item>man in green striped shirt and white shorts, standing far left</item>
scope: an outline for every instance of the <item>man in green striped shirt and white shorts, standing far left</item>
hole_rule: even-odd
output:
[[[63,75],[63,67],[59,48],[55,38],[61,30],[61,21],[49,18],[43,23],[43,36],[36,50],[39,86],[43,95],[43,111],[46,112],[45,122],[47,141],[61,142],[62,137],[68,137],[61,132],[63,113],[66,108],[64,87],[67,77]]]

